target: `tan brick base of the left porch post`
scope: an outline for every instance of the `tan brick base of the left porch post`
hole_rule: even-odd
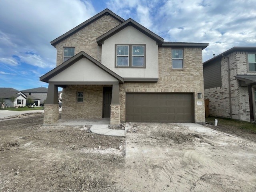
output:
[[[44,105],[44,124],[50,125],[57,123],[59,120],[59,105],[46,104]]]

